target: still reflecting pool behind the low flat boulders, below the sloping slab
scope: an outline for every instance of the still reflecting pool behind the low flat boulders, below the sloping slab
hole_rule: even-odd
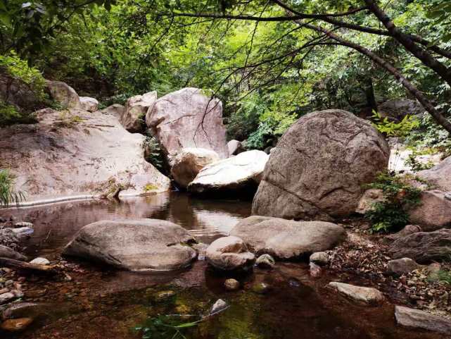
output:
[[[147,197],[65,202],[25,209],[0,210],[0,216],[14,216],[34,223],[34,234],[26,242],[26,252],[52,257],[61,252],[80,228],[102,219],[158,218],[178,223],[203,242],[228,233],[250,215],[250,202],[201,200],[179,192]]]

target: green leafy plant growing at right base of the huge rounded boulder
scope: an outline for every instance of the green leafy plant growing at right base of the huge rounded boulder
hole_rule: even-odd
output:
[[[420,202],[420,193],[408,182],[408,177],[392,173],[380,173],[369,188],[382,190],[383,202],[376,202],[365,217],[371,221],[374,232],[398,230],[409,223],[407,211]]]

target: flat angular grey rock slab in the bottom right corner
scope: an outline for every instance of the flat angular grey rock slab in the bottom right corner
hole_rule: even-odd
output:
[[[422,328],[428,331],[451,334],[451,321],[441,316],[429,314],[419,309],[395,306],[396,322],[409,328]]]

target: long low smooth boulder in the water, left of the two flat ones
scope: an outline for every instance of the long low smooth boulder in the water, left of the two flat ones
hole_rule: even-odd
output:
[[[63,254],[129,271],[169,271],[189,266],[196,251],[188,231],[170,221],[124,219],[84,226]]]

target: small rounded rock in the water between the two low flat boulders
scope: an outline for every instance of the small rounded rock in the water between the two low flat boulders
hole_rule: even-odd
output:
[[[223,237],[208,246],[206,259],[208,264],[222,271],[251,269],[254,254],[248,252],[243,240],[237,237]]]

